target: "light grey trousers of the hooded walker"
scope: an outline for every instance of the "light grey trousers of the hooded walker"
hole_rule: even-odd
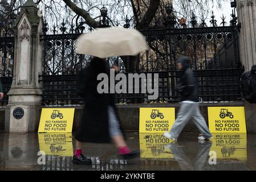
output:
[[[185,127],[186,123],[188,123],[190,119],[192,119],[203,137],[212,137],[212,134],[210,133],[208,126],[206,125],[205,119],[200,113],[199,104],[181,103],[177,119],[175,120],[172,129],[170,129],[169,132],[173,138],[178,138],[182,129]]]

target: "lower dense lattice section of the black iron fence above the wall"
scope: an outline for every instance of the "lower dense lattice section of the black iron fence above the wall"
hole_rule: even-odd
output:
[[[180,78],[180,72],[143,72],[146,76],[147,73],[159,74],[159,97],[156,100],[148,100],[147,93],[128,93],[127,85],[127,93],[115,94],[116,104],[178,102],[176,84]],[[242,69],[197,70],[194,73],[198,80],[199,96],[202,102],[241,100],[239,78]],[[124,74],[128,78],[129,73]],[[83,98],[79,97],[75,91],[76,79],[77,75],[42,76],[43,103],[45,105],[82,105]],[[144,81],[140,79],[140,91],[141,82],[147,84],[147,81],[147,77]]]

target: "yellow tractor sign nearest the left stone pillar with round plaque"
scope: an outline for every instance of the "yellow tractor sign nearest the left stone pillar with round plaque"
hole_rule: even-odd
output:
[[[75,108],[43,108],[39,133],[71,133]]]

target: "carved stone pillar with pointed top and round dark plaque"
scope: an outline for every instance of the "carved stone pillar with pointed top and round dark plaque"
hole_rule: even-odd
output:
[[[32,0],[22,5],[14,25],[14,75],[5,111],[5,130],[11,133],[33,132],[38,127],[42,101],[42,85],[38,81],[42,73],[42,22]],[[20,108],[14,117],[17,107]],[[24,115],[19,119],[22,110]]]

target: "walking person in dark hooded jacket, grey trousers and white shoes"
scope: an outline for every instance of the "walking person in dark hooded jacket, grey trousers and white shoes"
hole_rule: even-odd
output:
[[[197,129],[202,134],[198,140],[212,138],[205,119],[200,113],[198,103],[198,86],[196,77],[192,69],[189,68],[189,57],[183,56],[178,59],[178,69],[182,71],[182,76],[177,91],[180,93],[181,107],[178,116],[169,133],[164,133],[164,137],[177,141],[182,129],[190,119],[194,122]]]

